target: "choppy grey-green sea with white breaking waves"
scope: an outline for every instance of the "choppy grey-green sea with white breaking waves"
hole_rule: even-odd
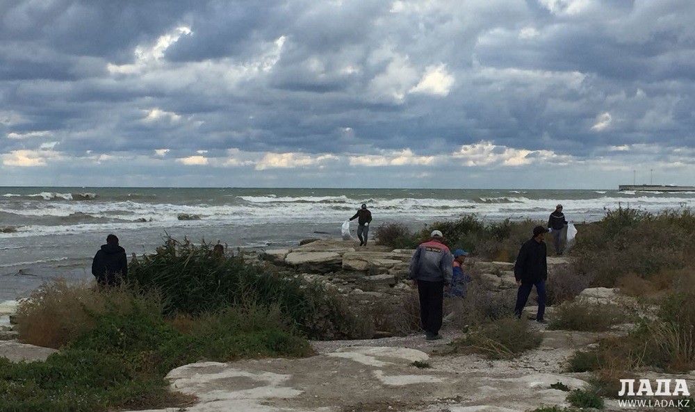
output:
[[[91,279],[92,257],[109,233],[129,256],[153,253],[167,236],[262,250],[340,237],[363,203],[372,228],[420,229],[471,214],[545,222],[556,204],[579,223],[620,206],[659,212],[694,202],[695,192],[618,190],[0,187],[0,306],[57,277]]]

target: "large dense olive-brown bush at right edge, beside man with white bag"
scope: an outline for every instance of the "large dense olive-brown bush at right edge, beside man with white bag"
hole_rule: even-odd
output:
[[[629,274],[651,279],[663,270],[695,264],[695,215],[688,209],[658,214],[619,207],[580,227],[573,270],[593,286],[613,287]]]

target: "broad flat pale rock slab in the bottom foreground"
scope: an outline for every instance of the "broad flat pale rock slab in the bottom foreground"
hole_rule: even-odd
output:
[[[193,363],[167,377],[174,390],[198,397],[189,412],[525,411],[567,406],[566,392],[550,384],[585,384],[562,374],[461,374],[416,361],[432,359],[403,347],[344,347],[305,359]]]

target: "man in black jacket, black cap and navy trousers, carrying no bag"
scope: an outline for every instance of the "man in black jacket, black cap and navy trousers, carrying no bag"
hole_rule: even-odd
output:
[[[546,242],[543,235],[548,229],[543,226],[533,228],[533,237],[527,240],[519,250],[514,263],[514,278],[519,289],[516,293],[514,315],[521,318],[523,307],[526,306],[531,289],[536,286],[538,293],[538,312],[536,322],[545,323],[543,315],[546,312],[546,279],[548,279],[548,261],[546,259]]]

